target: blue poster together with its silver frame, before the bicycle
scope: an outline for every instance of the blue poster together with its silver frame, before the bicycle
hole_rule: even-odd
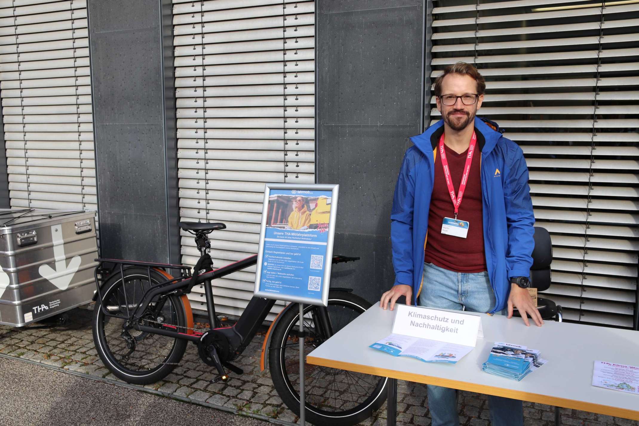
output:
[[[254,296],[328,305],[338,194],[337,184],[265,185]]]

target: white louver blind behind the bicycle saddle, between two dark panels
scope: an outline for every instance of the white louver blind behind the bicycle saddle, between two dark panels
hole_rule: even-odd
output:
[[[209,235],[221,267],[257,253],[265,182],[315,182],[315,5],[173,3],[180,217],[226,223]],[[199,257],[189,233],[181,253]],[[240,315],[253,287],[254,267],[214,280],[216,312]],[[203,288],[189,299],[206,310]]]

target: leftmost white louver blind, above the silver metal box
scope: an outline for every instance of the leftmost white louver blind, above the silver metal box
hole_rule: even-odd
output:
[[[96,210],[86,0],[0,0],[12,207]]]

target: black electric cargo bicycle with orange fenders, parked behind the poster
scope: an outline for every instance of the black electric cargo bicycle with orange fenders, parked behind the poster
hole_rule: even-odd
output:
[[[227,370],[251,342],[275,303],[253,297],[231,327],[215,313],[211,281],[256,264],[257,255],[213,268],[208,234],[223,223],[180,222],[195,235],[201,253],[193,272],[189,266],[98,259],[98,286],[93,315],[93,340],[104,365],[119,379],[134,384],[155,383],[180,363],[188,342],[200,358],[217,370],[213,381],[226,381]],[[357,258],[333,256],[333,263]],[[178,271],[171,276],[170,271]],[[204,287],[210,328],[196,329],[187,294]],[[305,306],[305,353],[312,351],[369,308],[346,288],[330,288],[328,307]],[[291,303],[272,322],[262,349],[261,368],[268,362],[273,385],[286,406],[299,415],[299,307]],[[386,398],[387,378],[305,366],[306,419],[317,425],[354,425],[365,420]]]

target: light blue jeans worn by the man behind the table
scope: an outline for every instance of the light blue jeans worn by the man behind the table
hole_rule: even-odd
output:
[[[424,283],[417,301],[430,308],[489,312],[495,306],[495,294],[488,272],[461,273],[424,264]],[[427,386],[428,407],[433,426],[459,426],[457,390]],[[492,426],[523,426],[520,400],[489,395]]]

